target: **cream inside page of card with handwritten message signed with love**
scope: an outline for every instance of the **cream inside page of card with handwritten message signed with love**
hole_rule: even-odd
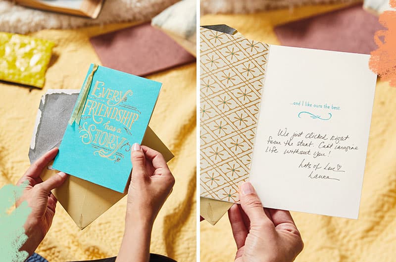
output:
[[[357,218],[369,55],[270,45],[249,179],[265,207]]]

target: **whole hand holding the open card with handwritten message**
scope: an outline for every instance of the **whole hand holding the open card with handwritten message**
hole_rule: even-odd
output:
[[[228,211],[236,262],[292,262],[304,244],[289,211],[263,208],[253,186],[240,187],[241,205]]]

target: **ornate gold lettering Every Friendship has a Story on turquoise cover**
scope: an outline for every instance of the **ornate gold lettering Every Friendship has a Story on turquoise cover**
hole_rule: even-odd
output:
[[[103,81],[96,81],[90,95],[82,119],[92,118],[93,123],[84,122],[79,126],[81,142],[92,145],[96,149],[94,155],[117,162],[124,157],[119,152],[121,149],[130,150],[125,136],[132,135],[133,124],[139,120],[141,113],[133,107],[122,105],[133,95],[133,91],[116,90],[107,87]],[[124,126],[124,132],[114,125],[116,123]]]

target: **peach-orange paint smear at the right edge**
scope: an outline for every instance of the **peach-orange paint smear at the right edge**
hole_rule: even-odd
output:
[[[396,8],[396,0],[390,0],[389,4]],[[389,81],[391,87],[396,87],[396,11],[385,11],[379,21],[388,30],[375,33],[378,49],[371,52],[369,67],[382,80]]]

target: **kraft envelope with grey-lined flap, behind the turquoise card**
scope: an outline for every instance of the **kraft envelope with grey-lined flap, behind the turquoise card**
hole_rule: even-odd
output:
[[[29,150],[31,163],[51,148],[59,146],[79,91],[54,89],[43,95]],[[161,152],[166,161],[173,158],[173,154],[149,127],[142,144]],[[41,178],[47,180],[56,173],[55,170],[47,169]],[[126,195],[75,176],[69,176],[52,193],[80,229],[88,226]]]

